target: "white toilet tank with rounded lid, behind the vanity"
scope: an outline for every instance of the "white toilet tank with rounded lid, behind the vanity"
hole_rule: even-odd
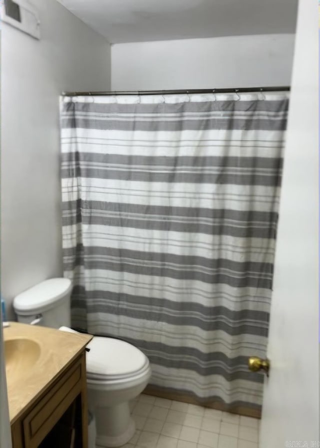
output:
[[[70,294],[69,279],[49,279],[32,286],[13,299],[17,321],[51,328],[69,327]]]

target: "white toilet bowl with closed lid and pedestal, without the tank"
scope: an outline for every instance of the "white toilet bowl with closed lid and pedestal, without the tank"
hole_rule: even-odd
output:
[[[149,360],[133,345],[114,338],[95,336],[87,348],[86,384],[88,407],[95,416],[95,445],[122,446],[135,431],[129,401],[150,379]]]

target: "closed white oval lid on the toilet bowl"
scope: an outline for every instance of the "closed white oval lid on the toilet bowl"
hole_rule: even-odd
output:
[[[141,370],[147,357],[133,345],[119,339],[93,337],[86,352],[86,371],[90,377],[110,379],[130,376]]]

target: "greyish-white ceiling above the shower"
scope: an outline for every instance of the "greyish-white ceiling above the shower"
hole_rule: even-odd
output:
[[[111,44],[294,33],[297,0],[58,0]]]

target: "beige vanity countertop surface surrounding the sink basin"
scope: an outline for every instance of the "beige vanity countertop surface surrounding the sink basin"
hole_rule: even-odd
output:
[[[72,363],[92,337],[17,322],[9,322],[9,327],[3,328],[4,341],[28,338],[39,344],[41,350],[32,368],[21,372],[18,380],[6,377],[10,424]]]

